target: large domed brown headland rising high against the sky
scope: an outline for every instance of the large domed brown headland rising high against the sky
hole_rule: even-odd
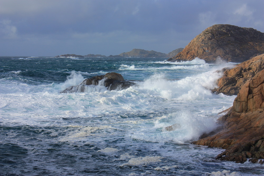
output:
[[[241,63],[262,53],[264,33],[253,28],[213,25],[168,61],[186,61],[198,57],[212,63],[220,56],[225,61]]]

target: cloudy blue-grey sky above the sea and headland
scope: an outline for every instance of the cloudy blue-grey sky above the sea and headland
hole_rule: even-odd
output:
[[[264,32],[264,0],[0,0],[0,56],[169,53],[215,24]]]

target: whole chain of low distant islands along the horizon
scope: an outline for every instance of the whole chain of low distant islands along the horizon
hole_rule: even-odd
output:
[[[170,58],[172,55],[175,56],[177,53],[182,51],[183,48],[178,48],[171,51],[168,54],[157,52],[157,51],[147,51],[143,49],[133,49],[129,52],[121,53],[119,55],[105,56],[101,54],[87,54],[87,55],[76,55],[76,54],[63,54],[55,56],[56,58]]]

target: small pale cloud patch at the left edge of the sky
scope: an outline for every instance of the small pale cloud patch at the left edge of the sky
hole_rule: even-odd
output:
[[[15,39],[17,38],[17,28],[11,24],[11,20],[0,21],[0,35],[3,38]]]

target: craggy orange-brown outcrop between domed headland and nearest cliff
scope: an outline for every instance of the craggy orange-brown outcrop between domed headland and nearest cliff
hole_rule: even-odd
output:
[[[235,68],[224,68],[223,76],[217,80],[217,88],[212,92],[237,95],[246,81],[264,69],[264,54],[238,64]]]

